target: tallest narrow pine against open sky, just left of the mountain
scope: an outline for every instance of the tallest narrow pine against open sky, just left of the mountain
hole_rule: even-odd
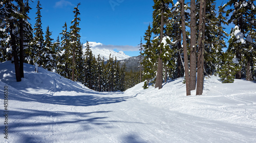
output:
[[[80,43],[80,28],[79,23],[81,21],[80,17],[78,17],[80,15],[78,6],[80,6],[80,3],[77,4],[77,6],[74,8],[73,13],[74,15],[74,20],[72,20],[71,25],[70,26],[70,30],[71,32],[69,33],[69,38],[70,38],[70,46],[71,46],[71,51],[72,51],[72,80],[75,81],[75,67],[76,67],[76,51],[78,50],[78,48],[80,47],[81,43]]]

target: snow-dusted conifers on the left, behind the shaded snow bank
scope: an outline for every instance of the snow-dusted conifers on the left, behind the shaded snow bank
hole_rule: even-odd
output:
[[[106,64],[99,55],[96,59],[89,42],[83,53],[79,35],[80,3],[74,8],[71,26],[68,28],[66,22],[62,26],[61,41],[57,37],[53,42],[49,26],[45,34],[42,31],[39,1],[34,28],[29,23],[30,2],[9,0],[0,3],[0,62],[14,61],[17,81],[24,77],[23,63],[28,63],[81,82],[96,91],[124,91],[138,83],[127,78],[137,73],[125,72],[125,66],[120,66],[111,55]]]

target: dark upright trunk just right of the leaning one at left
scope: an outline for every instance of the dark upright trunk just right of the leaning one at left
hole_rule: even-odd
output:
[[[20,3],[20,13],[24,14],[24,3],[23,0],[19,0]],[[20,72],[20,77],[24,78],[24,69],[23,69],[23,63],[24,63],[24,53],[23,53],[23,40],[24,40],[24,22],[23,18],[19,17],[19,72]]]

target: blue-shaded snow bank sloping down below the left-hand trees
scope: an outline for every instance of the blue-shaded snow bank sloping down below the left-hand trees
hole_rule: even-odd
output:
[[[24,63],[24,75],[21,82],[16,82],[15,68],[11,61],[0,63],[0,81],[10,85],[21,92],[33,95],[53,95],[62,91],[91,91],[83,84],[64,78],[55,72],[50,72],[38,67]]]

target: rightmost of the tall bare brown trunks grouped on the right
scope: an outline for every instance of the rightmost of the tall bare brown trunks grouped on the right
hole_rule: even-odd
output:
[[[199,15],[199,42],[198,42],[198,71],[197,71],[197,92],[196,95],[203,94],[204,84],[204,33],[205,33],[205,11],[206,0],[200,1]]]

